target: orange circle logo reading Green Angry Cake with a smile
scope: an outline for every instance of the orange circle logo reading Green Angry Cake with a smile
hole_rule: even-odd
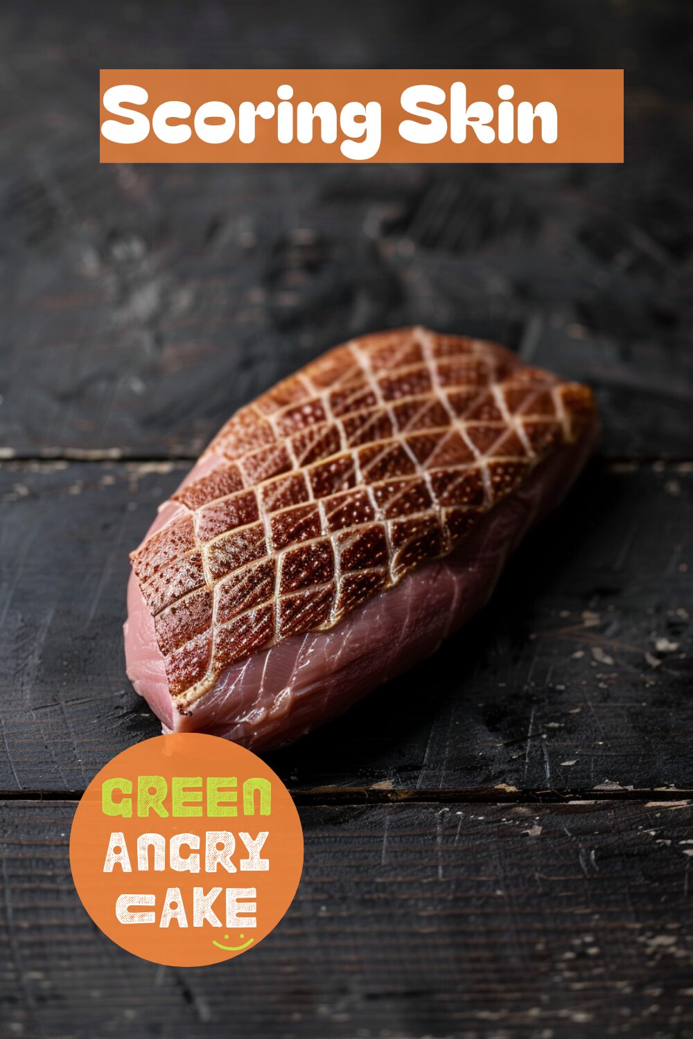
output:
[[[95,776],[70,864],[91,920],[166,966],[204,966],[259,944],[291,905],[303,834],[263,761],[228,740],[157,736]]]

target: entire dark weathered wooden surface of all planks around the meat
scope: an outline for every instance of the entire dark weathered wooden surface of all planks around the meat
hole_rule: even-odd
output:
[[[0,1036],[693,1036],[688,4],[3,10]],[[622,167],[99,166],[99,66],[623,66]],[[256,952],[112,945],[79,793],[158,726],[127,554],[235,407],[427,323],[589,381],[603,435],[489,607],[271,756],[305,873]]]

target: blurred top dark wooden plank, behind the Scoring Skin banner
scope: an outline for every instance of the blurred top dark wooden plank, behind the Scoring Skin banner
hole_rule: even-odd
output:
[[[512,0],[496,6],[484,20],[405,0],[390,17],[359,0],[327,19],[311,0],[269,3],[260,35],[247,3],[174,0],[165,25],[146,6],[74,0],[59,19],[39,4],[5,20],[22,90],[0,116],[0,443],[195,457],[328,347],[426,324],[591,382],[605,453],[687,458],[693,133],[672,16],[591,0],[578,19],[542,0],[530,29]],[[625,65],[627,165],[100,166],[87,54],[104,68]]]

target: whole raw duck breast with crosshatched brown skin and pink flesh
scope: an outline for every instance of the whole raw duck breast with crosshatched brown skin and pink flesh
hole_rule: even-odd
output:
[[[480,340],[353,340],[241,408],[132,554],[128,674],[164,730],[290,742],[488,598],[596,434],[588,388]]]

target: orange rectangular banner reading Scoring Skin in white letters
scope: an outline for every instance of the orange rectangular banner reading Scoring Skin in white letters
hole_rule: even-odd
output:
[[[622,162],[620,69],[103,69],[102,162]]]

